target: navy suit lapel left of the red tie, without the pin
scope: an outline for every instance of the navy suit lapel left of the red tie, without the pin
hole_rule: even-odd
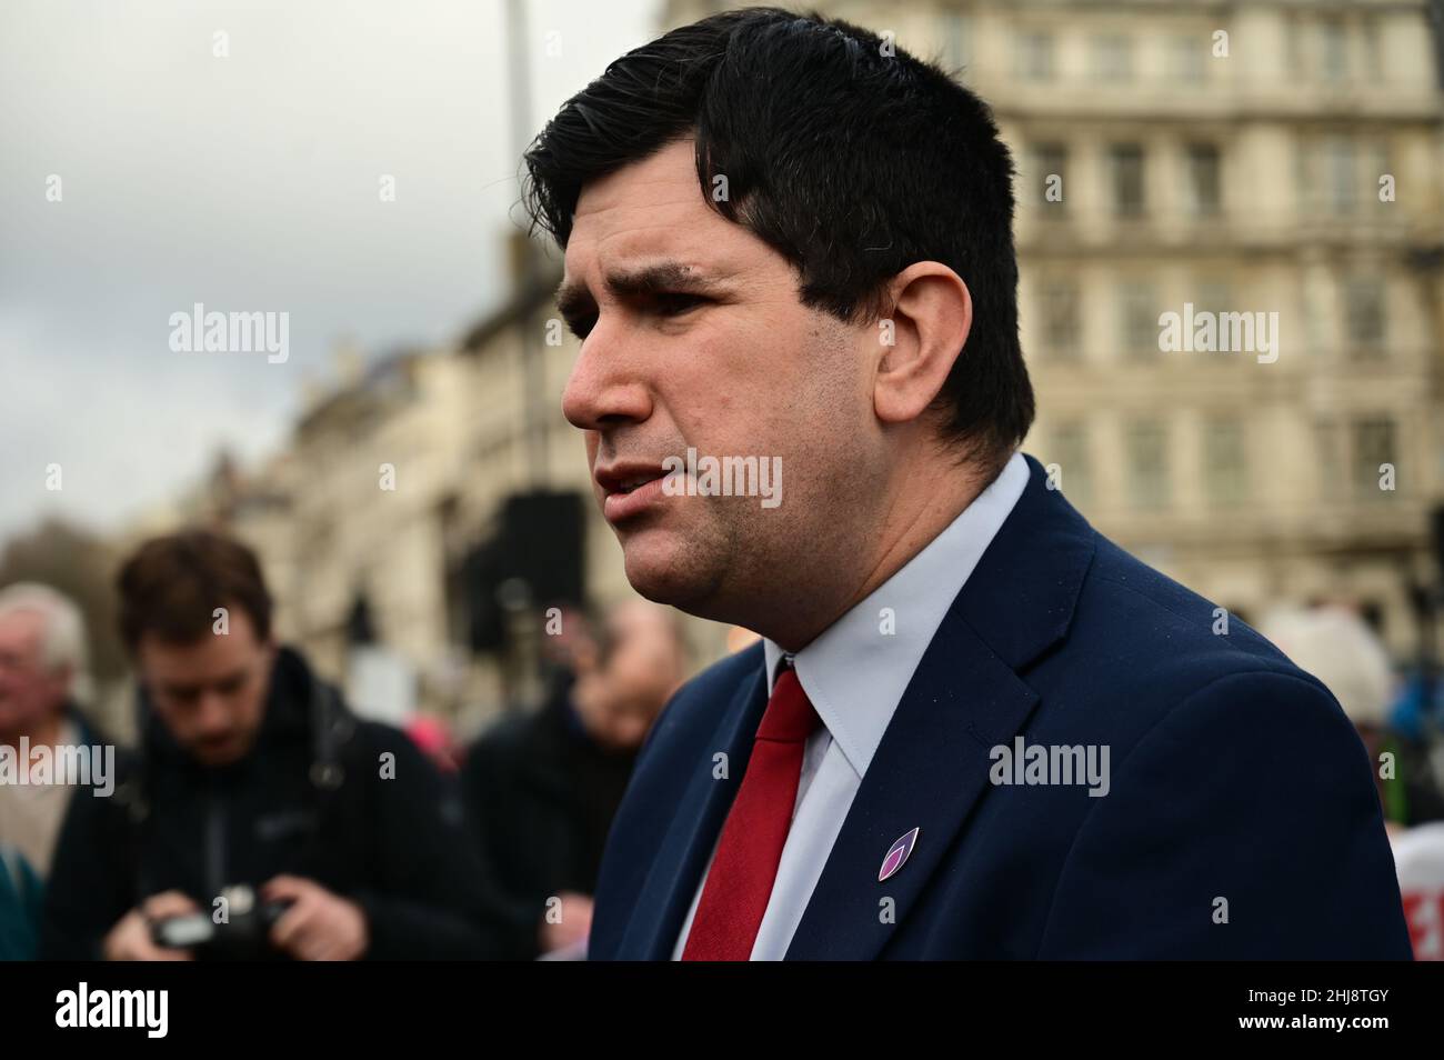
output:
[[[767,667],[757,654],[752,676],[745,679],[722,715],[705,754],[693,765],[692,781],[677,806],[632,907],[632,918],[618,950],[622,960],[667,960],[682,930],[682,921],[696,894],[708,856],[722,830],[726,812],[742,783],[752,737],[767,708]],[[728,777],[713,778],[713,755],[728,755]]]

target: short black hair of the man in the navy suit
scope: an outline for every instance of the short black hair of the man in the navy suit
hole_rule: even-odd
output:
[[[950,440],[1001,465],[1034,400],[1012,157],[988,105],[851,23],[775,7],[715,14],[617,59],[546,124],[524,156],[533,233],[565,248],[586,183],[689,136],[703,199],[796,267],[803,305],[871,322],[914,261],[963,279],[973,326],[939,404]],[[716,175],[721,202],[708,194]]]

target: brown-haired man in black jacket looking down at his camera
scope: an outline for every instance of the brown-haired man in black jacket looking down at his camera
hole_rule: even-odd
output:
[[[485,957],[461,806],[407,738],[357,719],[271,638],[254,555],[147,542],[118,579],[140,748],[62,829],[51,959]]]

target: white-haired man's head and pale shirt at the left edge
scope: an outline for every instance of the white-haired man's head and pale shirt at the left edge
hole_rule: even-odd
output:
[[[85,622],[68,598],[45,585],[0,589],[0,747],[95,742],[75,708],[87,680]],[[0,784],[0,848],[45,877],[72,787]]]

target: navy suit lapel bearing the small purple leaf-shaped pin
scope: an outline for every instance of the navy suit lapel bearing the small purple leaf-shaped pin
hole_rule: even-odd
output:
[[[1061,494],[1047,490],[1038,462],[1028,458],[1028,487],[892,715],[788,960],[878,956],[982,797],[991,748],[1011,742],[1038,702],[1018,670],[1066,635],[1095,539]],[[888,849],[914,827],[911,855],[879,882]]]

